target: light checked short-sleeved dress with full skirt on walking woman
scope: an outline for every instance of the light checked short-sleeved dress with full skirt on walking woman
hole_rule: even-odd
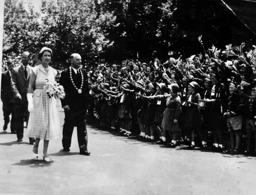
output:
[[[33,93],[34,109],[28,120],[28,137],[45,140],[60,137],[60,120],[56,107],[56,99],[49,98],[44,90],[46,79],[54,82],[57,71],[49,67],[48,73],[42,64],[32,68],[36,75],[35,88]]]

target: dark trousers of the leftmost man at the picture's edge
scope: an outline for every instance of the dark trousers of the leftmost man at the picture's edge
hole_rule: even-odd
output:
[[[4,113],[4,123],[5,124],[8,124],[10,122],[10,115],[12,114],[11,132],[14,133],[16,127],[15,127],[15,114],[14,114],[13,102],[3,103],[3,113]]]

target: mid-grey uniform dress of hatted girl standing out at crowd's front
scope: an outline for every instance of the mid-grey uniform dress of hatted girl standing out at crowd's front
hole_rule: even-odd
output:
[[[166,109],[162,121],[162,128],[167,131],[179,131],[178,123],[174,123],[174,119],[178,120],[181,113],[181,101],[178,95],[170,96],[166,99]]]

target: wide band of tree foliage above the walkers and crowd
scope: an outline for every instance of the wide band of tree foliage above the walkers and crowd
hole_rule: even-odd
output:
[[[40,10],[35,11],[31,3],[24,8],[22,0],[5,0],[5,53],[22,50],[34,53],[48,46],[54,51],[56,62],[66,62],[75,52],[88,62],[101,58],[120,62],[135,59],[137,53],[141,61],[149,61],[154,50],[162,59],[167,57],[168,50],[187,56],[191,51],[202,51],[197,40],[200,35],[207,47],[252,39],[233,14],[214,1],[40,2]]]

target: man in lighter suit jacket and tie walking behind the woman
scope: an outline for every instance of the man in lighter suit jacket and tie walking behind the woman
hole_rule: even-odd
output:
[[[29,52],[22,52],[21,62],[22,65],[15,67],[12,70],[11,87],[14,94],[14,113],[16,119],[17,141],[21,142],[24,133],[24,117],[28,124],[29,111],[28,111],[28,85],[30,80],[31,67],[28,66],[30,58]],[[34,143],[33,138],[29,138],[29,143]]]

